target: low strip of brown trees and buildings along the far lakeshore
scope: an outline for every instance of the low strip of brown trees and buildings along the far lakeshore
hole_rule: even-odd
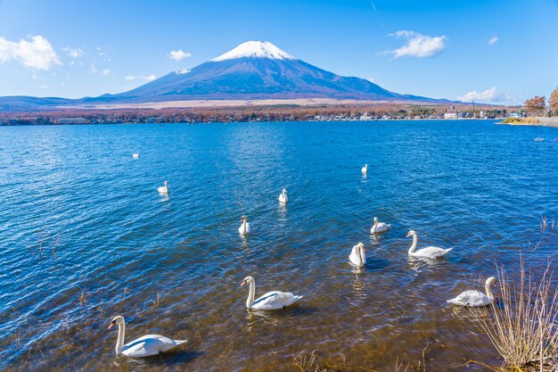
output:
[[[104,123],[208,123],[247,121],[498,119],[523,115],[521,107],[469,104],[230,106],[166,109],[58,109],[0,112],[0,125]]]

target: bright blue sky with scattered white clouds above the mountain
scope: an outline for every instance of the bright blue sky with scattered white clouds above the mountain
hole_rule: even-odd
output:
[[[119,93],[247,40],[398,93],[522,103],[558,86],[558,0],[0,0],[0,95]]]

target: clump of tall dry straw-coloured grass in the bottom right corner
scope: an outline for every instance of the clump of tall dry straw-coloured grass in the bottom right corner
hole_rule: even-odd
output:
[[[547,370],[555,364],[558,345],[558,287],[550,262],[542,272],[533,272],[521,258],[516,280],[504,267],[496,265],[496,271],[501,301],[472,309],[472,318],[502,356],[501,370]]]

